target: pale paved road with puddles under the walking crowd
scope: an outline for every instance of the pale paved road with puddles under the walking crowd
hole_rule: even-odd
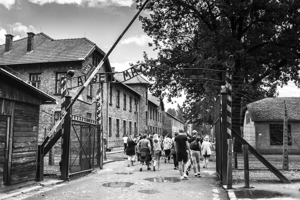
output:
[[[127,167],[127,161],[107,163],[103,169],[66,183],[44,187],[9,199],[228,199],[218,186],[215,162],[201,168],[202,177],[180,180],[172,163],[162,162],[159,171],[139,171],[139,165]]]

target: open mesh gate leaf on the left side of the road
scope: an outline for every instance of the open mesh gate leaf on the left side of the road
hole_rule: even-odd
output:
[[[71,115],[69,176],[101,167],[101,134],[96,131],[96,121]]]

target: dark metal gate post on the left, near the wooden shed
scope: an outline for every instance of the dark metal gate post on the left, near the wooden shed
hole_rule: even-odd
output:
[[[65,107],[71,102],[71,96],[65,95]],[[71,110],[71,109],[70,109]],[[69,173],[69,150],[70,150],[70,111],[64,117],[62,133],[62,154],[61,154],[61,176],[60,179],[67,180]]]

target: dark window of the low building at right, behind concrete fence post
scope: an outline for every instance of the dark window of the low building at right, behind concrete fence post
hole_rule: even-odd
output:
[[[283,145],[283,124],[270,124],[270,145]],[[288,145],[291,145],[290,124],[287,124]]]

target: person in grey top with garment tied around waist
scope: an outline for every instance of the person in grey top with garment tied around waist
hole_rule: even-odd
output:
[[[149,155],[151,154],[150,141],[146,138],[147,134],[142,135],[142,139],[138,141],[137,147],[139,150],[139,170],[142,170],[142,165],[145,162],[147,165],[147,170],[150,170],[149,167]]]

